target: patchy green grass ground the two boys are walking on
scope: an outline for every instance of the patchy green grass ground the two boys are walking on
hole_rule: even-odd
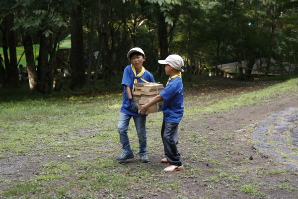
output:
[[[258,90],[234,96],[226,96],[229,92],[221,91],[221,94],[186,97],[185,114],[179,125],[179,132],[183,135],[181,139],[179,138],[179,147],[189,147],[181,157],[185,161],[193,161],[194,164],[185,163],[185,169],[178,172],[179,176],[175,177],[156,169],[163,166],[159,162],[154,162],[150,166],[139,163],[137,154],[139,143],[132,120],[128,133],[132,148],[136,151],[136,158],[130,163],[114,161],[122,152],[117,130],[123,98],[121,89],[115,87],[114,92],[109,92],[99,85],[96,90],[87,88],[52,96],[25,95],[27,90],[26,92],[0,90],[2,141],[0,166],[16,167],[13,162],[7,161],[8,158],[28,158],[28,161],[17,165],[18,169],[9,171],[11,175],[7,175],[7,179],[6,175],[5,177],[2,175],[0,196],[7,199],[21,197],[97,199],[103,198],[104,195],[105,198],[124,199],[148,198],[154,194],[167,198],[170,194],[175,195],[173,198],[185,198],[187,194],[183,192],[183,182],[186,181],[189,184],[186,187],[197,186],[198,182],[203,182],[206,184],[203,185],[204,189],[213,192],[230,189],[230,185],[226,188],[221,187],[223,184],[236,183],[238,194],[265,197],[266,195],[260,191],[262,185],[242,184],[244,179],[249,180],[248,175],[255,175],[257,179],[263,176],[257,175],[255,168],[250,166],[251,161],[243,158],[249,156],[239,152],[240,150],[236,153],[226,152],[227,149],[238,147],[234,143],[236,135],[233,130],[225,132],[218,128],[214,134],[208,134],[204,130],[198,130],[198,126],[199,129],[207,128],[208,124],[200,121],[203,116],[228,115],[233,109],[268,102],[280,98],[283,94],[297,96],[297,93],[293,93],[297,91],[297,85],[298,80],[292,79],[267,87],[264,91]],[[191,88],[192,86],[186,86],[185,90]],[[16,91],[18,93],[13,94]],[[219,100],[223,96],[225,100]],[[198,100],[208,99],[218,100],[216,103],[195,104]],[[163,155],[161,123],[161,113],[149,114],[147,119],[149,154]],[[193,128],[188,129],[191,125]],[[216,141],[213,140],[215,136],[218,138]],[[236,158],[239,160],[239,167],[243,165],[249,168],[239,169],[238,172],[232,169],[236,165],[232,159]],[[212,169],[205,169],[206,163]],[[22,168],[27,169],[26,175],[22,174]],[[285,170],[264,172],[264,175],[275,174],[286,175],[286,172]],[[276,188],[295,191],[293,185],[284,184]]]

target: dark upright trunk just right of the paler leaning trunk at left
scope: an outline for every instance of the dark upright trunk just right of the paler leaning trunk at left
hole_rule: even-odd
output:
[[[37,65],[37,75],[40,82],[41,90],[40,92],[46,93],[47,86],[47,70],[48,70],[48,60],[49,60],[49,51],[47,48],[47,38],[45,34],[42,34],[44,30],[41,30],[40,35],[40,45],[39,45],[39,56],[38,56],[38,65]]]

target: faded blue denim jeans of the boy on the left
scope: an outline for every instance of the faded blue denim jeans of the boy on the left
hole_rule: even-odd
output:
[[[146,131],[146,117],[145,116],[134,116],[130,114],[126,114],[124,112],[120,112],[119,121],[118,121],[118,132],[120,142],[122,144],[122,148],[124,150],[131,151],[132,148],[129,143],[129,138],[127,135],[127,129],[129,125],[129,121],[131,118],[134,118],[138,137],[139,137],[139,150],[140,155],[147,154],[147,131]]]

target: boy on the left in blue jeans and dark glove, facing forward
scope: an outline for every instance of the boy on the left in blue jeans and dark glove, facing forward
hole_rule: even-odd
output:
[[[133,150],[129,143],[127,135],[127,129],[131,117],[134,118],[138,137],[139,137],[139,150],[141,162],[149,162],[147,155],[147,131],[146,131],[146,116],[139,114],[137,104],[133,100],[135,84],[144,82],[155,82],[153,76],[149,71],[143,67],[145,62],[145,53],[141,48],[132,48],[127,58],[131,65],[128,65],[124,69],[123,79],[121,85],[124,86],[123,92],[123,103],[120,110],[119,121],[118,121],[118,132],[122,148],[124,149],[121,156],[118,156],[116,160],[125,161],[135,157]],[[143,80],[142,80],[143,79]]]

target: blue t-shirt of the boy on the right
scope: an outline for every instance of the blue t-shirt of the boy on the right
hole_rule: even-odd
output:
[[[179,123],[183,116],[183,84],[181,78],[172,79],[159,94],[164,100],[163,120]]]

